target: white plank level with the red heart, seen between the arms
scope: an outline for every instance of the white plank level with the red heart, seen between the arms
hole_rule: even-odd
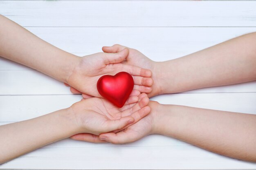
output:
[[[72,94],[62,82],[35,70],[0,71],[0,95]],[[96,84],[95,84],[96,87]],[[202,88],[184,93],[256,92],[256,81],[229,86]]]

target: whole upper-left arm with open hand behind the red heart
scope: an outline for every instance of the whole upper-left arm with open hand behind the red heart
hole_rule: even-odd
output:
[[[121,71],[133,76],[135,90],[141,93],[151,91],[150,70],[121,64],[126,60],[128,49],[78,57],[41,40],[2,15],[0,23],[0,56],[54,77],[75,88],[77,93],[101,97],[96,88],[99,77]]]

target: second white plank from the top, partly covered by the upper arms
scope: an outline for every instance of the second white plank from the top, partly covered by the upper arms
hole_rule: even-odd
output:
[[[239,35],[256,31],[256,27],[29,27],[27,29],[43,40],[75,55],[83,56],[98,53],[102,46],[122,44],[138,49],[154,61],[172,60]],[[0,57],[0,70],[30,69]]]

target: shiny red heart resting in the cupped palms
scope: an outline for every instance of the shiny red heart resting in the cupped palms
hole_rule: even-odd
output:
[[[116,75],[103,75],[97,82],[99,94],[119,108],[123,107],[132,93],[133,78],[129,73],[120,72]]]

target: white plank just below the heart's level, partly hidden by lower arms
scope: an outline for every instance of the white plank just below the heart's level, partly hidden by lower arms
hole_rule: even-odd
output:
[[[67,108],[80,100],[80,95],[0,96],[0,125],[38,117]],[[173,94],[153,97],[162,104],[177,104],[216,110],[256,114],[255,93]],[[54,103],[54,105],[53,105]],[[185,142],[161,135],[150,135],[131,144],[91,144],[64,139],[44,148],[114,147],[114,146],[189,146]]]

